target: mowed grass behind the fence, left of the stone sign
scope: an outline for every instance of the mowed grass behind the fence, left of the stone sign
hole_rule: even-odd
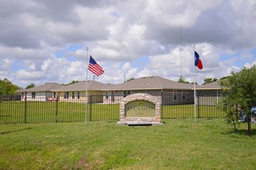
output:
[[[85,103],[21,102],[0,103],[0,123],[49,123],[84,121]],[[118,120],[120,104],[87,104],[87,121]]]

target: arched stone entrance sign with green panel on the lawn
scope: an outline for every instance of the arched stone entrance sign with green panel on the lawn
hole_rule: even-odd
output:
[[[146,93],[128,95],[120,102],[118,124],[162,124],[160,99]]]

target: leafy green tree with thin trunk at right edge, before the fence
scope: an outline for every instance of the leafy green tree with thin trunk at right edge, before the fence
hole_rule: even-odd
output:
[[[247,117],[247,135],[251,136],[251,107],[256,105],[256,65],[243,67],[242,71],[232,72],[230,77],[221,81],[225,87],[226,99],[222,104],[230,114],[229,119],[238,121],[239,112],[245,111]]]

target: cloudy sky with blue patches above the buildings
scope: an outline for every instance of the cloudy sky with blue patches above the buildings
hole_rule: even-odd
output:
[[[0,3],[0,79],[23,88],[86,80],[89,55],[104,68],[95,80],[114,84],[144,76],[193,82],[194,69],[201,84],[256,64],[255,0]]]

